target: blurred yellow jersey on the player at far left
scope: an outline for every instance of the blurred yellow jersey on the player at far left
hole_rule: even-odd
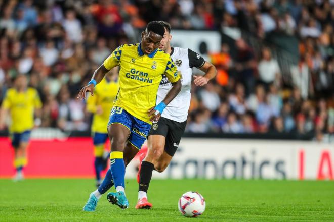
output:
[[[18,92],[15,88],[8,89],[2,107],[10,111],[10,132],[31,130],[34,125],[34,109],[41,106],[36,89],[27,88],[24,92]]]

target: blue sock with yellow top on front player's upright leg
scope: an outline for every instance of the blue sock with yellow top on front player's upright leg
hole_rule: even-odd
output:
[[[110,153],[110,171],[114,179],[116,191],[124,191],[125,164],[123,152],[115,151]]]

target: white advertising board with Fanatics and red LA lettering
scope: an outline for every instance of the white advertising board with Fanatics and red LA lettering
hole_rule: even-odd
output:
[[[313,141],[183,138],[169,168],[153,177],[332,180],[333,157],[332,144]]]

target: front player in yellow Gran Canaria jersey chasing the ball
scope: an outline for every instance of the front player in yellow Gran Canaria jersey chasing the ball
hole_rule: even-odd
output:
[[[108,201],[122,209],[128,208],[124,190],[125,167],[145,142],[152,121],[158,121],[163,109],[181,90],[180,77],[173,60],[169,54],[158,49],[163,34],[164,27],[161,24],[150,22],[142,32],[139,44],[119,46],[79,92],[78,98],[85,99],[87,91],[93,95],[95,85],[105,73],[115,66],[120,67],[119,92],[108,124],[110,173],[107,173],[100,187],[91,193],[84,211],[94,211],[98,199],[113,183],[116,193],[108,193]],[[156,105],[157,90],[163,74],[173,87],[162,102]]]

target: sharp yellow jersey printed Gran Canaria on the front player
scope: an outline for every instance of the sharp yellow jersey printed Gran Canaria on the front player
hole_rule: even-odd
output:
[[[149,124],[152,122],[147,111],[156,105],[156,94],[162,75],[165,74],[171,83],[180,78],[169,54],[160,49],[145,54],[140,43],[119,46],[103,65],[108,70],[120,66],[120,87],[113,105]]]

